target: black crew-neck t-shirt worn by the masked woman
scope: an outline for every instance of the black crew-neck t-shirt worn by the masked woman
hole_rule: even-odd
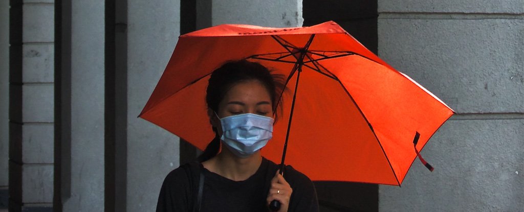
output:
[[[232,181],[210,172],[198,164],[200,169],[189,169],[188,165],[171,171],[165,178],[158,197],[157,212],[192,211],[198,189],[199,174],[204,174],[201,212],[206,211],[268,211],[266,198],[271,179],[278,165],[265,158],[255,174],[245,181]],[[196,170],[196,171],[195,171]],[[288,211],[319,211],[318,200],[311,180],[286,166],[284,178],[293,189]]]

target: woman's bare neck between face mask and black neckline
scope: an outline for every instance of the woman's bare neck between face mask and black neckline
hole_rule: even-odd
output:
[[[204,165],[204,168],[209,171],[230,180],[244,181],[255,174],[261,163],[262,157],[260,151],[247,158],[239,158],[232,152],[228,151],[227,148],[223,148],[216,157],[202,164]]]

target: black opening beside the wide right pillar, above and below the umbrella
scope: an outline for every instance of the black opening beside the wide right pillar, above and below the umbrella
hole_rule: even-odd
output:
[[[333,20],[377,54],[377,1],[303,0],[303,26]],[[378,211],[378,185],[315,182],[321,211]]]

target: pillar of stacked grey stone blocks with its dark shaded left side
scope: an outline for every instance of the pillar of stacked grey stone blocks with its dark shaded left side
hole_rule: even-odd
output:
[[[12,211],[50,210],[53,196],[52,1],[12,1],[10,153]],[[20,13],[21,12],[21,13]],[[21,17],[20,17],[21,16]],[[13,20],[13,19],[12,19]],[[21,21],[20,21],[21,20]],[[18,37],[21,32],[21,37]]]

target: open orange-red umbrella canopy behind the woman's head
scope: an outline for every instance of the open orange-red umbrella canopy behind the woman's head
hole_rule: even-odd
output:
[[[281,158],[295,95],[286,162],[313,181],[400,185],[418,151],[453,115],[329,21],[299,28],[220,25],[180,36],[139,117],[203,150],[214,137],[205,105],[210,74],[239,59],[286,77],[283,115],[262,154]]]

